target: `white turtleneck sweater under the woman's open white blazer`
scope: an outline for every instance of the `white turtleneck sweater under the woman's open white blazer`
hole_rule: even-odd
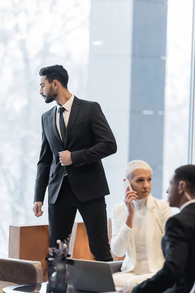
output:
[[[137,201],[133,201],[135,206],[135,214],[132,230],[136,243],[137,262],[132,273],[136,274],[150,273],[145,241],[146,201],[147,199],[138,199]]]

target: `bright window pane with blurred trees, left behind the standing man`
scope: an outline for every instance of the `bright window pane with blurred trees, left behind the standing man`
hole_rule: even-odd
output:
[[[0,1],[0,254],[8,251],[9,225],[47,223],[33,215],[41,144],[39,69],[63,64],[69,88],[86,98],[90,1]]]

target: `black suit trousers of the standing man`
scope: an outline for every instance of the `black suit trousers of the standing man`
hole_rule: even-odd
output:
[[[55,204],[48,204],[50,246],[64,241],[72,232],[77,209],[85,224],[89,247],[98,261],[112,261],[108,242],[105,198],[81,202],[72,191],[68,176],[65,176]]]

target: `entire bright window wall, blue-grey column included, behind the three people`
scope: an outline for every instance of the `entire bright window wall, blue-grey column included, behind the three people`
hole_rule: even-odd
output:
[[[174,169],[188,162],[192,27],[193,0],[0,1],[1,256],[8,252],[9,225],[47,223],[47,196],[43,216],[32,211],[41,115],[55,105],[39,95],[39,69],[64,65],[70,91],[99,102],[106,115],[118,146],[103,160],[110,217],[123,200],[130,158],[154,167],[160,198]],[[155,159],[154,121],[162,148]]]

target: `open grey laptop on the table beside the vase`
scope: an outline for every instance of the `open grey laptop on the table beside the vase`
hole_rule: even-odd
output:
[[[115,292],[112,270],[109,263],[93,260],[73,259],[68,272],[75,291]]]

